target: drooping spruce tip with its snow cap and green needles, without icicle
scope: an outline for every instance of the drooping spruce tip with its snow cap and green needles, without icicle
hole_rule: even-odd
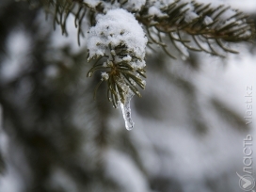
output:
[[[140,96],[136,84],[145,88],[144,61],[147,38],[133,14],[118,8],[97,16],[88,32],[88,61],[98,59],[88,76],[97,70],[107,78],[109,100],[124,103],[130,89]],[[96,89],[97,90],[97,89]]]

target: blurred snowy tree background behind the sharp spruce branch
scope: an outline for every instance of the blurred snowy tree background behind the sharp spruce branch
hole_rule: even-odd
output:
[[[256,21],[256,1],[226,2]],[[86,77],[92,64],[72,16],[67,29],[54,31],[27,3],[0,2],[0,192],[242,191],[244,139],[256,139],[255,45],[224,59],[149,53],[127,131],[105,84],[93,101],[100,73]]]

